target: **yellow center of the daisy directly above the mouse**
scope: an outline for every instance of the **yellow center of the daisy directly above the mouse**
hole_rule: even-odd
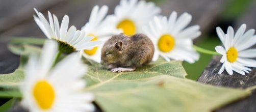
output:
[[[122,29],[123,34],[132,36],[136,33],[136,27],[132,20],[130,19],[123,19],[121,22],[118,23],[116,26],[117,29]]]

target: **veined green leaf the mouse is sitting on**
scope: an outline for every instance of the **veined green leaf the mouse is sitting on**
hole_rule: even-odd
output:
[[[100,64],[92,61],[88,64],[88,68],[88,73],[85,75],[88,86],[95,85],[106,80],[133,81],[159,75],[170,75],[185,78],[187,75],[182,66],[182,62],[166,62],[162,58],[157,62],[152,62],[149,65],[138,68],[133,72],[112,73],[111,71],[102,68]]]

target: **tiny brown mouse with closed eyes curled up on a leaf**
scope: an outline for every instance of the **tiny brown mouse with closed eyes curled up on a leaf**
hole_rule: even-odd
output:
[[[154,50],[152,41],[144,34],[114,35],[101,50],[100,64],[112,72],[134,71],[151,62]]]

